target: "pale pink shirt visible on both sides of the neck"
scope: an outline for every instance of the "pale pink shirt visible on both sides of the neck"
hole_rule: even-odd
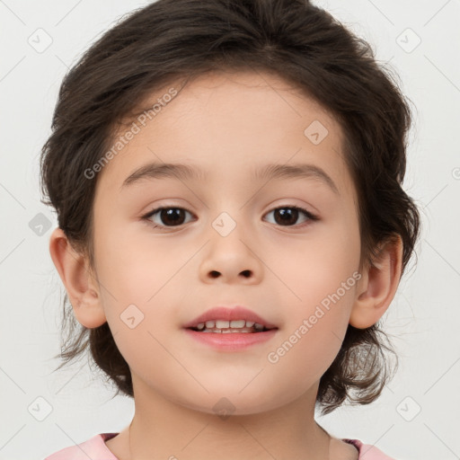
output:
[[[114,456],[105,441],[114,438],[119,433],[101,433],[93,436],[93,438],[78,444],[78,446],[66,447],[59,450],[51,456],[47,456],[45,460],[119,460]],[[360,460],[394,460],[377,449],[374,446],[363,444],[358,439],[342,439],[352,446],[356,447],[359,453]]]

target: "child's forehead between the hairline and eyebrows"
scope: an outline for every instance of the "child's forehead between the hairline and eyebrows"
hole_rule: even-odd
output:
[[[247,173],[249,180],[267,164],[313,163],[335,176],[339,188],[349,187],[340,124],[279,76],[216,72],[179,89],[172,83],[155,91],[142,107],[156,105],[157,111],[119,129],[113,146],[121,137],[125,141],[112,148],[115,155],[102,168],[98,187],[119,188],[130,172],[152,162],[196,165],[209,183],[234,173],[241,179]],[[165,97],[174,91],[179,93]],[[126,142],[128,131],[136,134]]]

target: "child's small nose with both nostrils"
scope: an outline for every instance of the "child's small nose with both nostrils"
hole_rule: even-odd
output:
[[[205,283],[257,284],[261,282],[263,263],[248,238],[238,226],[231,234],[211,234],[199,267],[199,277]],[[214,232],[214,229],[213,229]],[[243,237],[243,238],[242,238]]]

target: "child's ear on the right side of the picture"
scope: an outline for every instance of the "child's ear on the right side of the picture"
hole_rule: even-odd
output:
[[[377,261],[367,264],[359,279],[357,299],[351,309],[349,324],[365,329],[375,324],[390,306],[401,279],[403,241],[396,235],[380,249]]]

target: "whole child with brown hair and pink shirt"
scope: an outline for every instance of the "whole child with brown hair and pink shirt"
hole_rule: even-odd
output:
[[[390,376],[410,121],[306,0],[158,0],[107,31],[66,75],[41,179],[82,325],[62,357],[89,347],[135,415],[48,460],[390,458],[314,410]]]

